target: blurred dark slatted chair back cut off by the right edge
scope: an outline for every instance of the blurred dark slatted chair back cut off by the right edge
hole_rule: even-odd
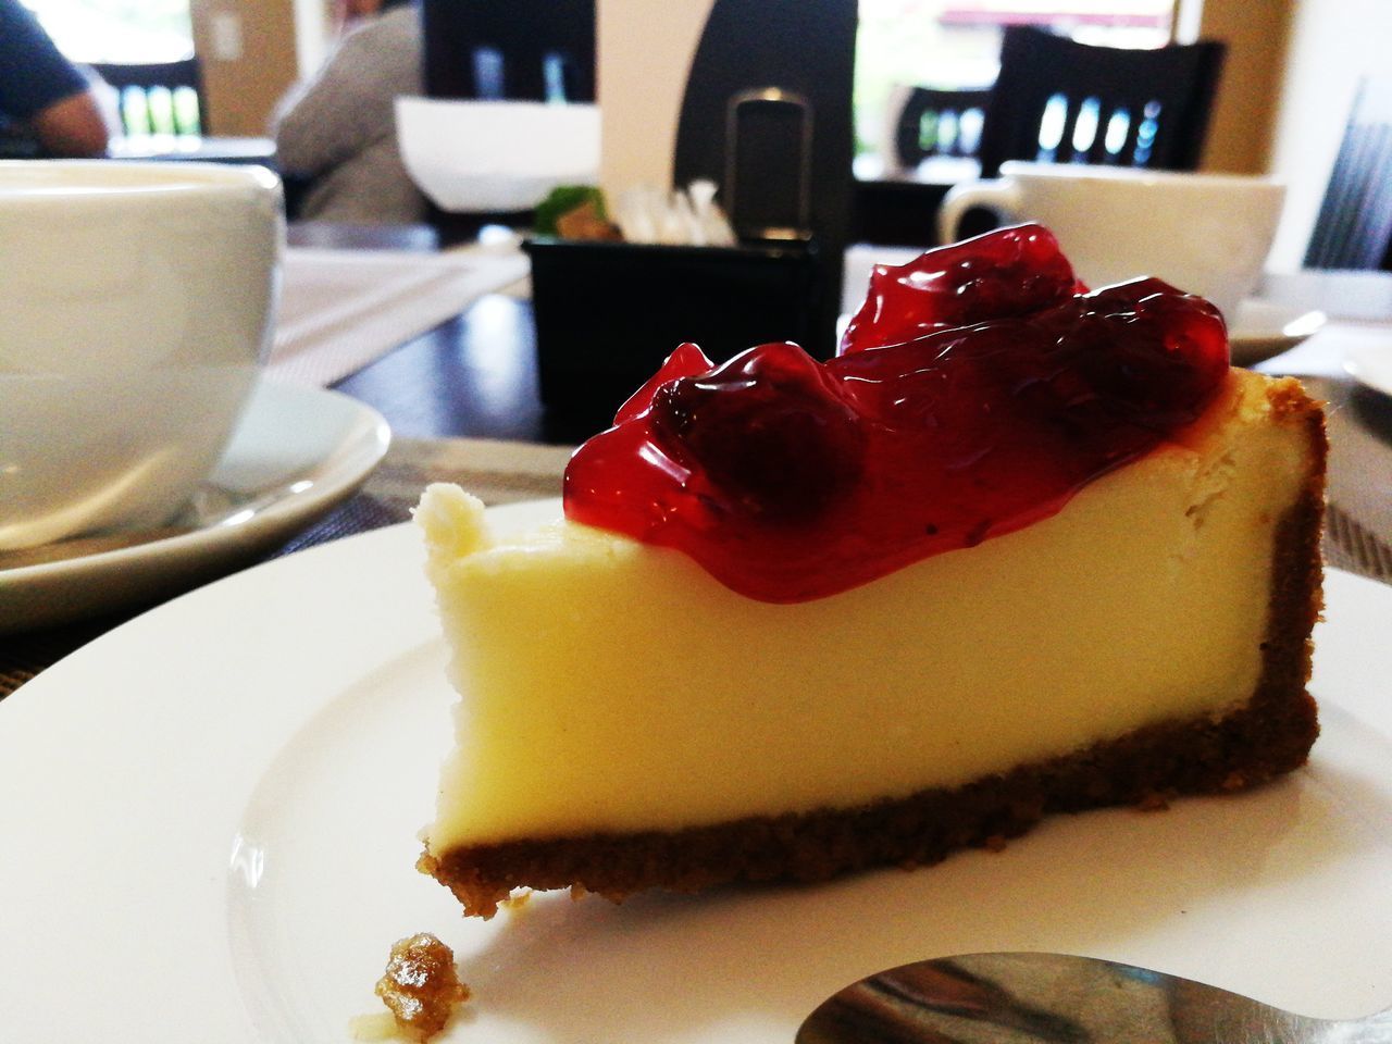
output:
[[[1392,269],[1392,79],[1359,88],[1304,264]]]

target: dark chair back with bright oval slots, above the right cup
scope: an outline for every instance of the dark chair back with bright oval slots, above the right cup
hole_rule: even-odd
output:
[[[981,128],[981,175],[1005,160],[1196,170],[1226,47],[1097,47],[1005,29]]]

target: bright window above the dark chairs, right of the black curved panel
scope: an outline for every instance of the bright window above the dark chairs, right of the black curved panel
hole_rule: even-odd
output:
[[[980,89],[995,81],[1001,31],[1043,25],[1082,43],[1161,47],[1173,35],[1175,0],[859,0],[856,168],[880,168],[901,88]]]

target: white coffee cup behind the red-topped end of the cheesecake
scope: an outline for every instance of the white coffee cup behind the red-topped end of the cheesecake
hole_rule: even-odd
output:
[[[1038,221],[1089,287],[1157,276],[1231,322],[1261,280],[1283,199],[1283,185],[1258,177],[1009,161],[997,180],[948,191],[938,237],[956,241],[977,206]]]

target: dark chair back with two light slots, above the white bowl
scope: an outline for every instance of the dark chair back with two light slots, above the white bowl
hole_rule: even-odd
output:
[[[430,97],[594,100],[594,0],[423,0]]]

